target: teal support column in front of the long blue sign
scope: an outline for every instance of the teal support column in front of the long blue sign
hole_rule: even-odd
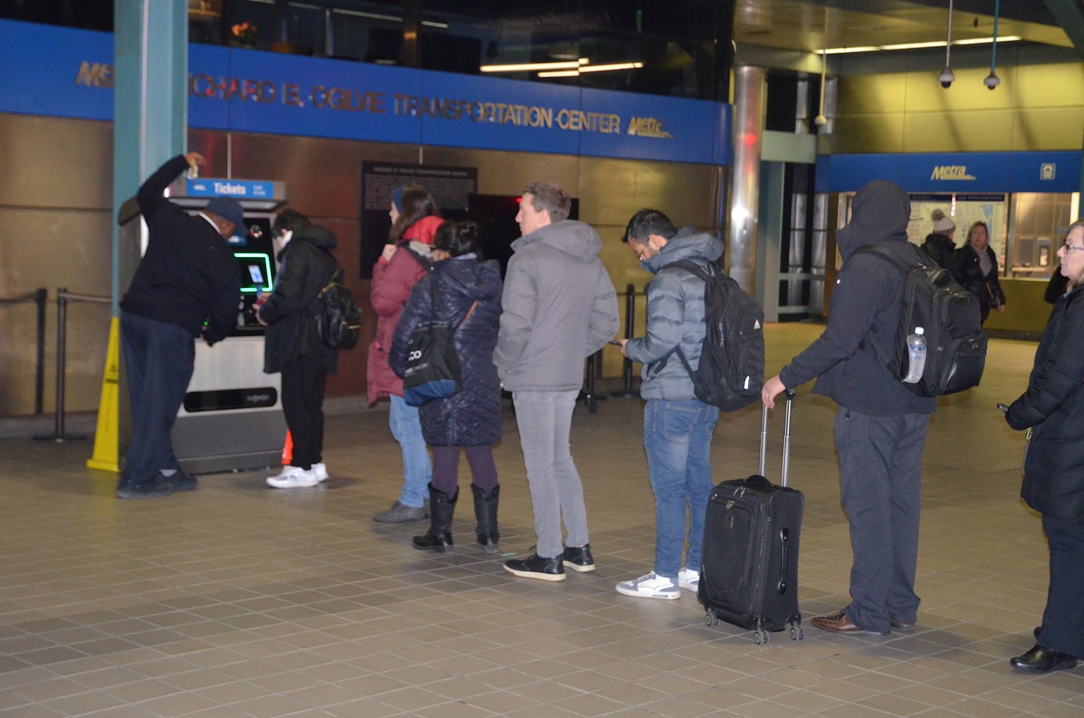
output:
[[[188,3],[116,0],[113,90],[113,316],[119,315],[120,205],[169,157],[189,124]]]

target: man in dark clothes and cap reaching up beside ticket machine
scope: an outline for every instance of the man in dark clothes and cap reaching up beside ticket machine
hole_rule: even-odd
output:
[[[237,320],[241,277],[225,240],[244,229],[235,200],[215,197],[197,215],[165,197],[169,183],[204,164],[190,152],[164,164],[139,189],[146,253],[120,300],[120,339],[131,401],[132,437],[117,496],[142,499],[191,491],[170,431],[195,362],[195,338],[225,338]]]

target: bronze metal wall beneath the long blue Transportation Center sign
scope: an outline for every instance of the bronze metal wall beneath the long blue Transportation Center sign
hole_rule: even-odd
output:
[[[5,241],[0,243],[0,296],[29,293],[37,286],[49,287],[50,296],[55,296],[57,286],[108,296],[112,126],[0,114],[0,141],[7,163],[0,176],[0,222],[5,229]],[[17,151],[8,152],[9,148]],[[369,282],[358,279],[357,271],[362,161],[477,167],[478,190],[483,194],[516,195],[538,180],[558,182],[580,198],[581,218],[597,227],[603,261],[619,291],[629,282],[642,287],[650,279],[620,242],[637,209],[658,207],[678,223],[721,233],[713,221],[721,214],[725,170],[708,165],[208,130],[190,130],[189,149],[206,155],[205,177],[285,182],[291,206],[338,238],[336,256],[366,311],[361,345],[340,355],[338,374],[328,381],[330,396],[364,392],[366,348],[375,330],[375,317],[367,310]],[[47,411],[53,401],[54,316],[51,304]],[[108,319],[108,305],[70,310],[68,411],[98,408]],[[4,387],[0,415],[34,410],[34,321],[33,305],[0,308],[0,386]],[[620,370],[620,356],[608,351],[605,374],[619,375]]]

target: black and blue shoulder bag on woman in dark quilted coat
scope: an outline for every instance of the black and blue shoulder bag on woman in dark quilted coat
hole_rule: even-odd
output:
[[[447,399],[463,390],[463,367],[455,351],[455,330],[443,318],[444,305],[437,294],[437,283],[429,278],[431,315],[410,335],[406,345],[406,369],[403,371],[403,400],[421,407],[434,399]],[[462,326],[474,313],[478,303],[470,305]]]

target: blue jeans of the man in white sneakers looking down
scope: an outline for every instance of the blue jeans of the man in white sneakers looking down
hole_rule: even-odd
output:
[[[678,579],[688,508],[685,565],[700,569],[704,516],[711,493],[711,434],[719,409],[697,399],[650,399],[644,407],[644,450],[655,493],[655,573]]]

